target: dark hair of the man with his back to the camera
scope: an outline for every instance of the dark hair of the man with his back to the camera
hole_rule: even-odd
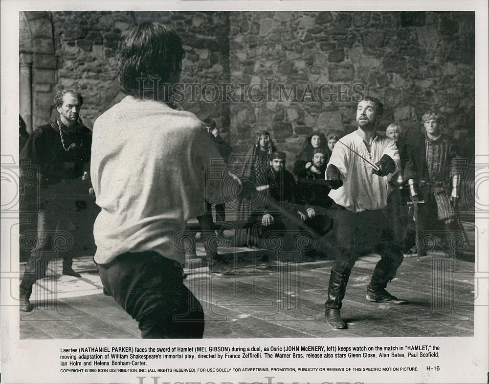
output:
[[[168,83],[180,69],[185,51],[175,30],[157,21],[138,24],[122,44],[118,57],[117,80],[122,91],[137,97],[137,79],[157,79]]]

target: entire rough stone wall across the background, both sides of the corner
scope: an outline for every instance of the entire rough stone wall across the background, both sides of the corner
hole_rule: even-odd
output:
[[[368,94],[384,103],[379,129],[396,121],[409,137],[421,131],[426,110],[439,110],[444,129],[460,140],[469,161],[473,156],[473,12],[47,14],[52,25],[45,26],[45,34],[51,28],[52,36],[42,42],[51,39],[54,59],[37,63],[50,65],[49,73],[39,70],[53,84],[41,84],[42,73],[35,74],[36,89],[44,92],[35,102],[45,110],[55,90],[79,88],[85,97],[81,117],[89,128],[124,96],[115,78],[116,55],[128,31],[134,22],[159,20],[182,36],[181,81],[197,86],[185,90],[183,107],[229,129],[236,153],[249,149],[256,129],[267,129],[288,153],[289,168],[311,131],[355,129],[356,100]],[[35,12],[29,18],[36,19]],[[229,97],[224,84],[235,88]],[[214,97],[216,90],[222,97]],[[38,113],[35,123],[44,124],[49,113]]]

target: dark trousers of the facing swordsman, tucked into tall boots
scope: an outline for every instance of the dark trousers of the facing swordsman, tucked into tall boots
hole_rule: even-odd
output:
[[[367,252],[378,253],[380,260],[374,268],[369,288],[382,292],[396,276],[404,258],[393,231],[386,228],[387,220],[382,211],[353,213],[334,204],[333,223],[339,248],[333,270],[341,275],[353,268],[359,256]]]

